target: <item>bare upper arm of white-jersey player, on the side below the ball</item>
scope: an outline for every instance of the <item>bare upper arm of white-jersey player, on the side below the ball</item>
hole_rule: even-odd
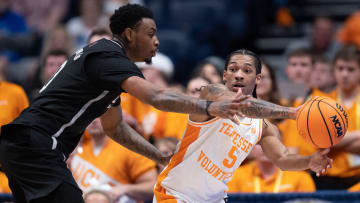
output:
[[[288,150],[281,142],[279,129],[266,119],[263,122],[263,134],[260,145],[265,156],[276,163],[280,158],[286,156]]]

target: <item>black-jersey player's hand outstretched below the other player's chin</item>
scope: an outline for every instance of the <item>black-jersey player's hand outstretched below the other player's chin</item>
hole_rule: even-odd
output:
[[[239,124],[239,120],[236,115],[244,116],[239,110],[249,107],[250,104],[245,102],[245,100],[250,97],[250,95],[243,95],[240,91],[236,93],[232,100],[211,103],[208,112],[211,116],[227,118],[232,120],[234,123]]]

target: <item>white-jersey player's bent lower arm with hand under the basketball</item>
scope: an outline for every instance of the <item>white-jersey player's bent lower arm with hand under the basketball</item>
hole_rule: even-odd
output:
[[[326,156],[329,149],[320,150],[311,156],[290,154],[280,141],[279,129],[269,121],[263,121],[263,134],[260,145],[264,154],[281,170],[311,169],[317,176],[331,167],[332,160]]]

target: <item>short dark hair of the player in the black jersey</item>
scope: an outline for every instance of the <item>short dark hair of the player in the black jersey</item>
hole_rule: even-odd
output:
[[[110,30],[114,35],[121,35],[126,28],[136,28],[143,18],[154,19],[150,9],[138,4],[121,6],[110,17]]]

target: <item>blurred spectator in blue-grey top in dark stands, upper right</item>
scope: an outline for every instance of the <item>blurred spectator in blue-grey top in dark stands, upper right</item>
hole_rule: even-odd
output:
[[[311,35],[290,43],[285,53],[305,48],[309,49],[312,54],[324,55],[332,59],[340,48],[340,44],[334,40],[334,33],[335,26],[332,19],[326,16],[317,16],[311,27]]]

